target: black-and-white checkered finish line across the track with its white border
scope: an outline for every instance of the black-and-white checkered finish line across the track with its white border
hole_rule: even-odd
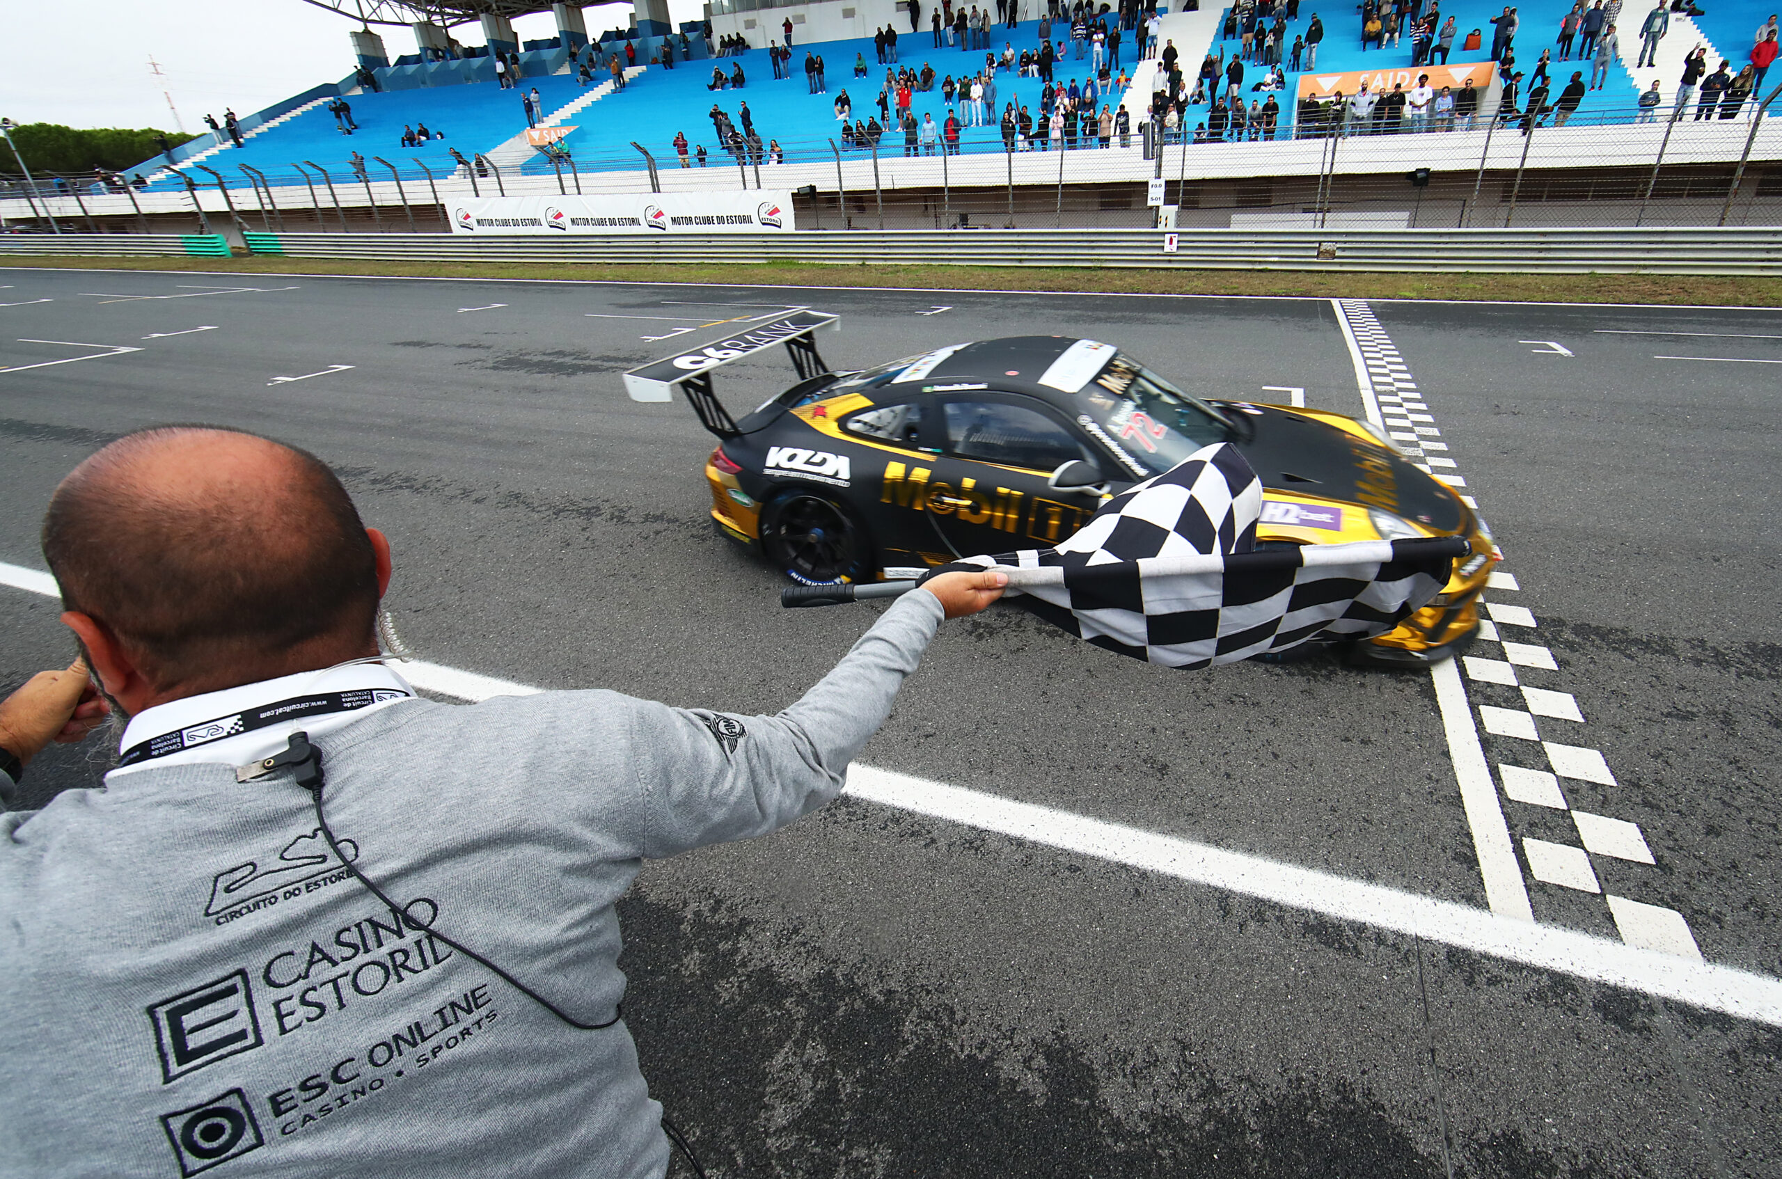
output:
[[[1449,458],[1449,447],[1442,442],[1442,431],[1429,413],[1427,397],[1417,388],[1410,367],[1372,308],[1365,299],[1331,299],[1331,306],[1336,310],[1336,321],[1354,360],[1367,417],[1404,447],[1418,468],[1452,488],[1467,488],[1467,479]],[[1459,497],[1468,508],[1479,506],[1465,492]],[[1524,835],[1520,841],[1529,874],[1543,885],[1602,894],[1591,857],[1634,864],[1655,864],[1655,858],[1638,823],[1575,810],[1568,803],[1563,780],[1606,787],[1618,787],[1618,782],[1602,752],[1579,743],[1584,714],[1572,693],[1552,686],[1557,682],[1559,664],[1538,641],[1540,622],[1534,613],[1524,606],[1495,600],[1499,593],[1520,593],[1520,590],[1513,573],[1493,572],[1486,584],[1493,600],[1481,604],[1486,618],[1479,623],[1479,641],[1472,648],[1477,654],[1440,663],[1431,668],[1431,675],[1443,712],[1449,752],[1454,757],[1454,775],[1461,785],[1461,801],[1479,853],[1486,899],[1495,914],[1533,921],[1527,883],[1515,858],[1515,841],[1504,817],[1499,785],[1516,803],[1563,812],[1572,819],[1577,842],[1533,835]],[[1470,691],[1454,663],[1465,668]],[[1488,696],[1488,693],[1497,695]],[[1520,700],[1515,700],[1515,695],[1520,695]],[[1483,698],[1499,698],[1500,703],[1483,703]],[[1504,703],[1515,707],[1502,707]],[[1495,782],[1479,743],[1481,727],[1493,737],[1525,743],[1511,755],[1515,762],[1497,762]],[[1625,896],[1604,896],[1604,899],[1614,928],[1629,946],[1702,960],[1689,923],[1677,910]]]

